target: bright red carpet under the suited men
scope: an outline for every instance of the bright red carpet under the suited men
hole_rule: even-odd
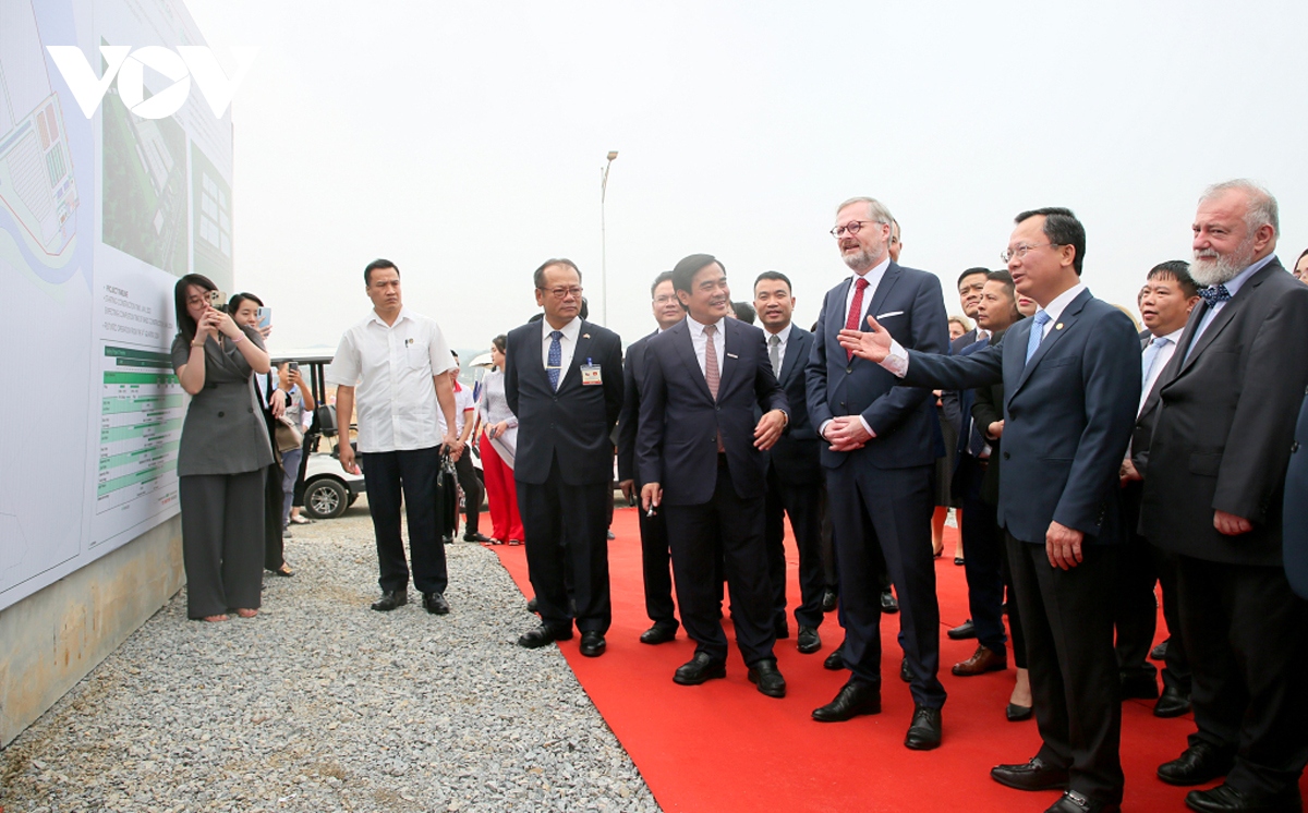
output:
[[[789,528],[787,528],[789,531]],[[746,680],[734,635],[727,678],[702,686],[678,686],[672,671],[689,660],[695,644],[684,631],[674,643],[645,646],[637,639],[649,627],[641,587],[641,548],[634,510],[619,508],[616,541],[610,542],[613,626],[608,651],[598,659],[577,652],[577,638],[559,644],[586,693],[627,748],[664,810],[1044,810],[1057,792],[1029,793],[1006,788],[989,776],[1001,762],[1025,762],[1040,748],[1035,720],[1008,723],[1005,705],[1014,672],[959,678],[948,667],[967,659],[976,640],[950,640],[944,629],[968,617],[963,569],[952,558],[937,559],[940,597],[940,680],[944,741],[934,752],[904,748],[913,712],[908,685],[899,678],[899,620],[882,626],[882,705],[876,716],[823,724],[810,712],[831,701],[848,672],[828,672],[823,659],[841,640],[836,614],[819,630],[823,650],[800,655],[791,638],[777,642],[777,661],[787,695],[759,694]],[[957,532],[946,529],[946,554]],[[523,548],[493,548],[523,592],[531,595]],[[799,596],[795,550],[787,539],[791,610]],[[528,626],[523,618],[523,630]],[[1165,626],[1159,618],[1159,637]],[[1160,720],[1152,702],[1127,701],[1122,707],[1122,765],[1126,810],[1184,810],[1188,788],[1163,784],[1154,775],[1175,758],[1194,729],[1186,715]],[[1215,784],[1215,783],[1214,783]],[[1211,786],[1207,786],[1211,787]]]

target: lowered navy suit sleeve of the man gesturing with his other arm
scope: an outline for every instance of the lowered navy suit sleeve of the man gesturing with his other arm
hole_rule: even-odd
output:
[[[1103,522],[1104,485],[1117,480],[1141,400],[1135,325],[1113,310],[1090,327],[1092,337],[1082,352],[1086,427],[1054,508],[1054,522],[1086,533],[1096,532]]]

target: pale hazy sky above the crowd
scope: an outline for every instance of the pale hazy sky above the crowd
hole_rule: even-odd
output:
[[[607,324],[653,329],[649,284],[722,259],[734,299],[766,269],[795,320],[849,272],[835,205],[884,201],[905,265],[1001,267],[1012,217],[1070,207],[1084,281],[1131,306],[1189,259],[1202,188],[1281,201],[1308,246],[1308,4],[409,3],[187,0],[220,55],[259,46],[233,106],[237,288],[273,345],[335,345],[394,260],[454,346],[535,312],[531,271],[582,269]]]

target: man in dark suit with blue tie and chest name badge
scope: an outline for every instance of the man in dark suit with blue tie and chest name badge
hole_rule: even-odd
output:
[[[569,640],[576,614],[581,654],[598,657],[612,621],[610,435],[623,408],[623,342],[581,318],[581,272],[572,260],[545,260],[534,281],[544,319],[509,333],[504,369],[505,400],[518,416],[513,474],[540,613],[540,626],[518,644]]]

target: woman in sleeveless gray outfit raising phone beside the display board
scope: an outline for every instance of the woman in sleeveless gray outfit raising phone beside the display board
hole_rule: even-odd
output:
[[[272,446],[252,375],[268,371],[263,337],[216,308],[217,286],[186,274],[173,291],[173,369],[191,396],[177,457],[187,616],[258,614],[263,587],[264,472]],[[215,299],[217,297],[217,299]]]

